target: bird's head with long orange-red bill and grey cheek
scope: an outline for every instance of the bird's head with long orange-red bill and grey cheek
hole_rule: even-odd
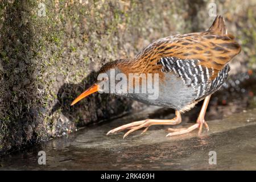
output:
[[[95,92],[107,93],[106,90],[112,90],[110,88],[111,87],[110,82],[112,81],[112,79],[115,80],[115,77],[113,77],[113,75],[116,75],[117,73],[121,73],[120,69],[118,68],[118,63],[121,61],[122,60],[110,61],[109,63],[106,63],[105,65],[103,65],[100,71],[98,72],[97,81],[88,89],[86,89],[83,93],[81,93],[80,96],[78,96],[72,102],[71,106],[76,104],[83,98],[89,96],[92,93],[95,93]]]

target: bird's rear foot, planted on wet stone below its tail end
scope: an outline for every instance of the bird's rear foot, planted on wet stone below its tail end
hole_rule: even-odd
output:
[[[207,122],[205,122],[204,118],[202,119],[197,119],[197,122],[195,125],[189,126],[188,128],[181,128],[181,129],[171,129],[169,128],[168,131],[172,131],[172,133],[169,133],[166,135],[166,137],[171,137],[174,135],[181,135],[181,134],[185,134],[185,133],[189,133],[195,129],[199,129],[198,131],[198,135],[200,136],[202,133],[202,129],[203,129],[203,125],[205,126],[205,128],[207,129],[207,131],[209,131],[209,126],[207,125]]]

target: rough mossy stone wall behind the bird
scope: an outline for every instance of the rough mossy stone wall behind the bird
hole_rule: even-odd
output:
[[[102,64],[134,56],[164,36],[206,30],[214,19],[209,2],[1,1],[1,154],[136,109],[104,94],[69,105]],[[234,73],[255,68],[254,2],[217,2],[243,46]]]

